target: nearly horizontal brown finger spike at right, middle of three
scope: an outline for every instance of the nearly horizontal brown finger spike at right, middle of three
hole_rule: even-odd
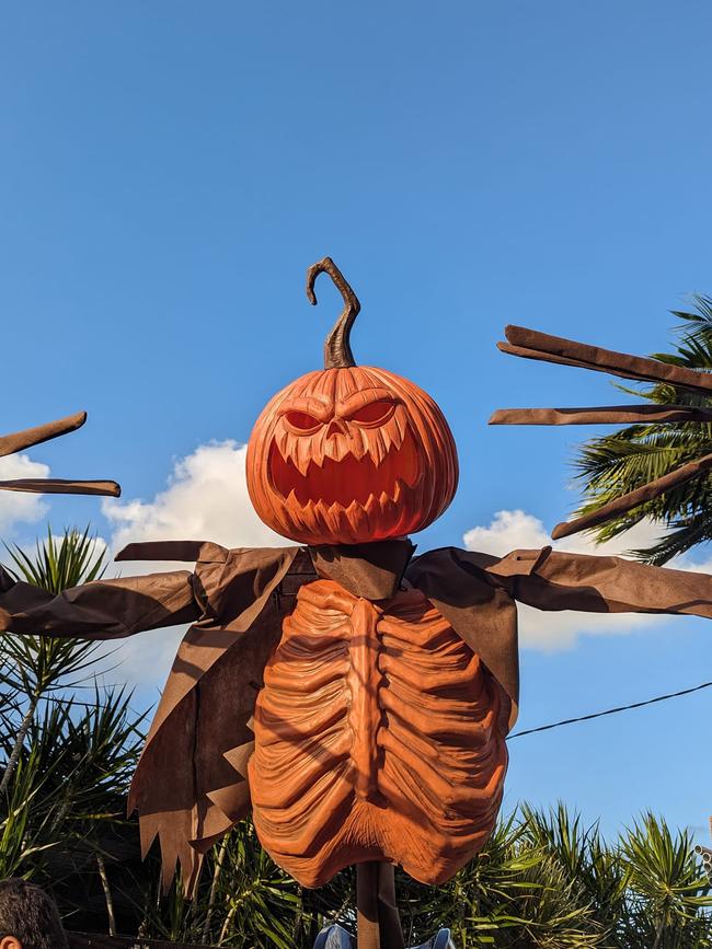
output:
[[[685,405],[600,405],[589,408],[498,408],[489,425],[635,425],[712,421],[712,409]]]

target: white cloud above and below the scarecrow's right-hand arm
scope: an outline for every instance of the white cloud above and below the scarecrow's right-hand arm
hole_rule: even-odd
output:
[[[469,551],[504,556],[517,548],[551,545],[554,549],[577,554],[625,556],[627,552],[647,546],[659,536],[661,528],[650,521],[636,524],[624,537],[606,544],[594,544],[585,536],[552,541],[543,523],[521,510],[497,511],[487,526],[474,526],[464,536]],[[676,564],[677,567],[688,564]],[[696,566],[694,569],[704,567]],[[575,613],[570,610],[546,613],[525,604],[519,605],[519,641],[522,646],[544,651],[566,649],[583,634],[627,634],[664,622],[665,617],[645,613]]]

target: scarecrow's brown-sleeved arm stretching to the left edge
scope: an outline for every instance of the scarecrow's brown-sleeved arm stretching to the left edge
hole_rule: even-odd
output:
[[[95,580],[62,593],[15,582],[0,567],[0,629],[117,639],[199,616],[187,570]]]

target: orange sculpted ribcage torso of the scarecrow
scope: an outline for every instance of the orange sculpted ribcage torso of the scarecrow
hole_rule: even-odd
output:
[[[263,846],[300,882],[391,859],[426,883],[484,844],[507,764],[501,686],[417,590],[303,586],[265,669],[250,760]]]

